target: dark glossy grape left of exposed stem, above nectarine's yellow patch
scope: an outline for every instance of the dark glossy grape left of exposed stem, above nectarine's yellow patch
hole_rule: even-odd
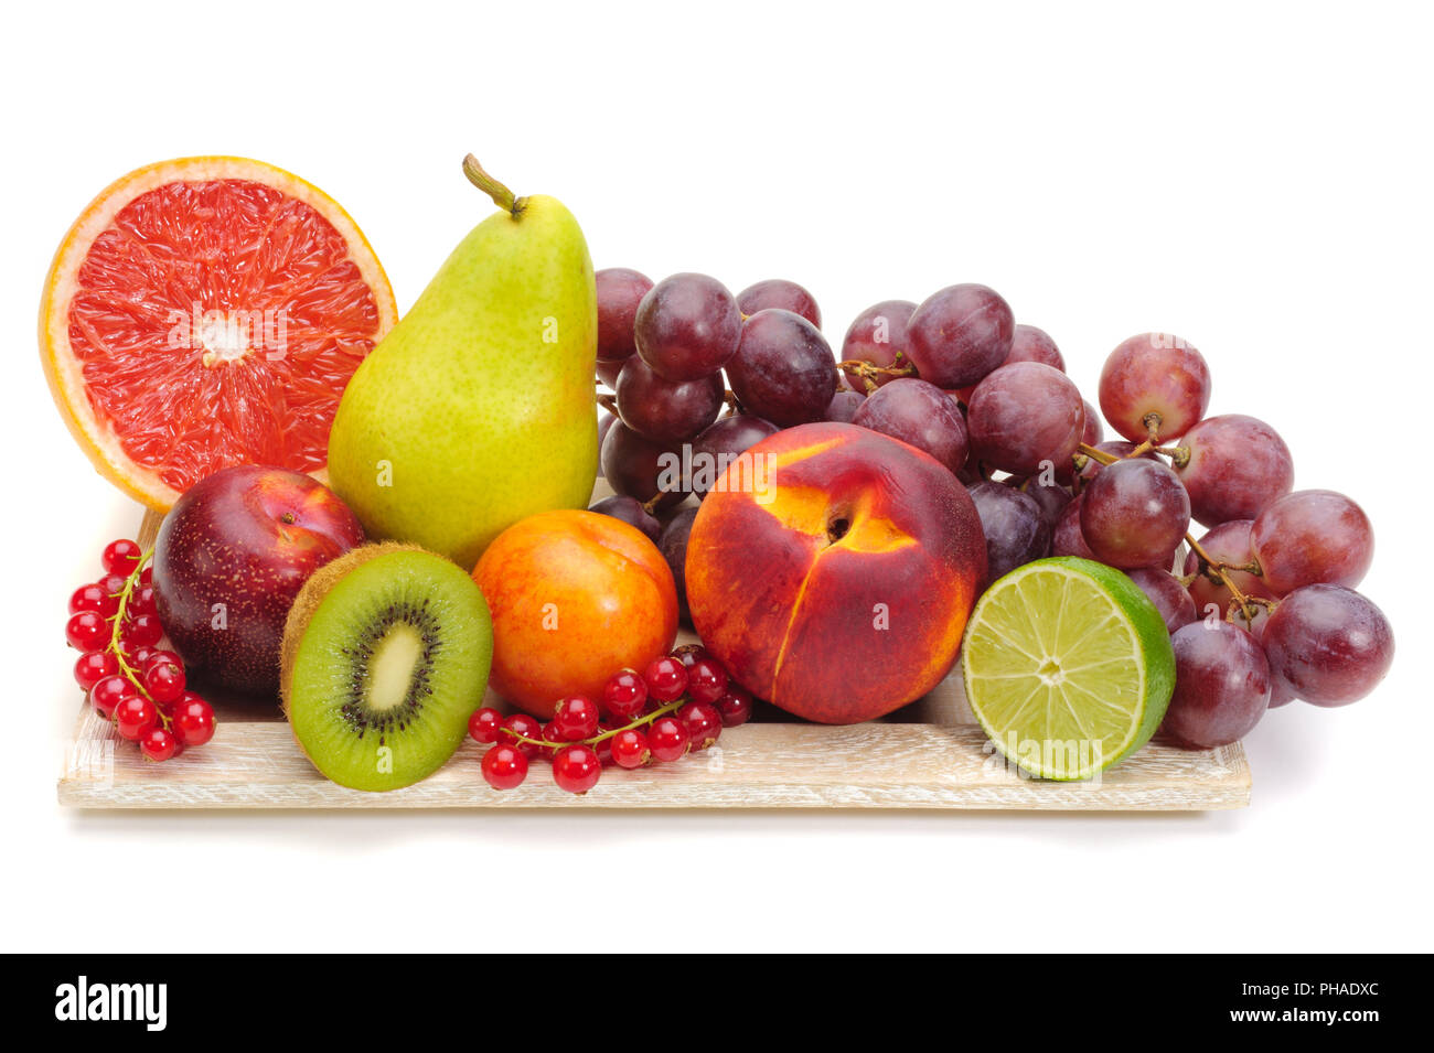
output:
[[[820,331],[799,314],[773,308],[743,322],[727,364],[743,408],[784,428],[822,420],[836,394],[836,372]]]

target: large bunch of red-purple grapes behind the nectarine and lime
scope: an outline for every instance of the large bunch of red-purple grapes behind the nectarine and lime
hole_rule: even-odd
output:
[[[1104,441],[1055,341],[1015,324],[985,285],[872,305],[837,360],[794,282],[734,297],[706,275],[654,285],[615,268],[598,274],[598,380],[611,390],[599,391],[612,413],[601,464],[617,496],[594,510],[658,543],[680,599],[695,510],[674,510],[711,481],[674,481],[670,466],[845,421],[961,479],[991,582],[1053,554],[1129,573],[1172,633],[1164,728],[1180,742],[1233,742],[1296,698],[1354,702],[1392,662],[1388,619],[1354,592],[1374,556],[1364,510],[1334,491],[1293,491],[1289,448],[1269,424],[1206,417],[1209,368],[1177,337],[1131,337],[1110,354],[1100,415],[1120,438]],[[1192,520],[1206,529],[1199,539]]]

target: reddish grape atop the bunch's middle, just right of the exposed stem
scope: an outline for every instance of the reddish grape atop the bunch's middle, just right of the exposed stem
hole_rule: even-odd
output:
[[[918,375],[939,388],[981,381],[1011,354],[1011,305],[985,285],[948,285],[912,311],[906,325]]]

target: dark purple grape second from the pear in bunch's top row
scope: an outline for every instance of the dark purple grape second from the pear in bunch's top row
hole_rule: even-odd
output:
[[[727,287],[704,274],[674,274],[637,308],[637,352],[671,381],[717,372],[737,351],[741,311]]]

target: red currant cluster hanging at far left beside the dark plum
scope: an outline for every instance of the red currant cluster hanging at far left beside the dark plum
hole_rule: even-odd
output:
[[[130,540],[105,546],[105,576],[70,596],[65,636],[83,653],[75,681],[119,736],[149,761],[168,761],[214,738],[214,708],[185,688],[184,662],[161,650],[151,553]]]

